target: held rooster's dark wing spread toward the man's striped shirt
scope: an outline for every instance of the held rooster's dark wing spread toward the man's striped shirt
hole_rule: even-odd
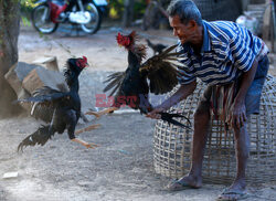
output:
[[[161,54],[148,59],[141,64],[139,71],[150,82],[150,92],[158,95],[170,92],[177,84],[177,67],[183,65],[178,60],[181,53],[171,52],[177,45],[164,50]]]

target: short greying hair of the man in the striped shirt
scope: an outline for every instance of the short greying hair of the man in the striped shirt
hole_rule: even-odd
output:
[[[192,0],[172,0],[167,9],[169,17],[179,15],[182,23],[194,20],[202,25],[201,13]]]

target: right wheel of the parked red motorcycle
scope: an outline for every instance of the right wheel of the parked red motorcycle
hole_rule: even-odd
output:
[[[102,23],[102,15],[98,9],[93,3],[85,3],[84,10],[91,13],[91,21],[86,24],[81,24],[82,30],[86,33],[96,33]]]

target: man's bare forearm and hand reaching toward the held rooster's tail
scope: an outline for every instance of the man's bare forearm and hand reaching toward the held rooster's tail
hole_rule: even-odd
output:
[[[169,109],[171,106],[178,104],[182,99],[187,98],[197,87],[197,81],[193,81],[187,85],[181,85],[180,88],[168,99],[166,99],[161,105],[155,107],[152,112],[150,112],[147,117],[150,118],[161,118],[159,113]]]

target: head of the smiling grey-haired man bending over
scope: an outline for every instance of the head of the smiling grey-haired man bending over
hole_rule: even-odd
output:
[[[173,0],[168,9],[170,25],[173,34],[181,43],[192,42],[202,27],[202,18],[198,7],[192,0]]]

